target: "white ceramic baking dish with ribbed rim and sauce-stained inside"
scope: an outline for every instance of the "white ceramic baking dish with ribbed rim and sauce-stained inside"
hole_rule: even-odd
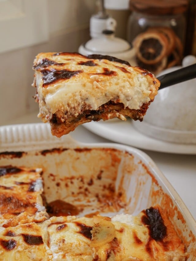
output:
[[[24,153],[18,157],[17,151]],[[51,135],[49,125],[42,123],[10,125],[0,127],[0,166],[5,165],[42,167],[47,202],[74,202],[81,208],[81,216],[96,211],[109,216],[136,215],[160,204],[190,253],[187,260],[195,260],[196,222],[144,152],[121,144],[77,143],[69,135],[59,139]],[[119,192],[120,208],[97,200],[97,195],[104,199],[108,193],[107,200],[112,201]]]

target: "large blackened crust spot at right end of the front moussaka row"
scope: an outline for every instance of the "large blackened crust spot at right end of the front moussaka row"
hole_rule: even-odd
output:
[[[167,234],[167,227],[158,209],[150,207],[145,211],[147,217],[142,217],[142,222],[148,226],[150,236],[156,240],[162,240]]]

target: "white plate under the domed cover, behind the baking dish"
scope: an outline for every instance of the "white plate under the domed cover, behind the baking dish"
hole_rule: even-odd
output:
[[[142,124],[142,122],[138,124],[140,123]],[[108,140],[134,146],[139,149],[177,154],[196,154],[196,144],[180,144],[152,138],[139,132],[134,127],[134,121],[130,119],[127,121],[118,119],[98,122],[91,121],[83,124],[83,126]]]

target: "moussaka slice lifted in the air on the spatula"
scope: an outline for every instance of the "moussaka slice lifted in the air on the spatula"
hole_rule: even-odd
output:
[[[33,69],[38,117],[57,137],[89,121],[142,121],[160,86],[149,71],[111,56],[40,53]]]

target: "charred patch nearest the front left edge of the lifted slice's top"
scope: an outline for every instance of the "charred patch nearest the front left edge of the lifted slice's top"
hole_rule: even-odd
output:
[[[82,73],[82,70],[78,71],[68,71],[68,70],[41,70],[43,74],[43,87],[47,87],[47,85],[54,83],[58,80],[66,80],[70,79],[73,76],[76,76],[79,73]]]

